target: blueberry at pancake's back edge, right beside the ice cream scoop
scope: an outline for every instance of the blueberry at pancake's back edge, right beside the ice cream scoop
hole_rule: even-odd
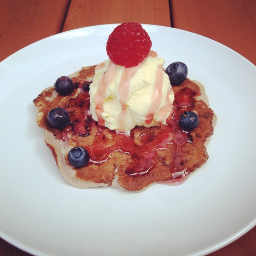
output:
[[[185,81],[188,76],[188,67],[183,62],[176,61],[166,68],[166,74],[172,85],[178,85]]]

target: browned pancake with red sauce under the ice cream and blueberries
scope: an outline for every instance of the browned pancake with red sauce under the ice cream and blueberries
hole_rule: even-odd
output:
[[[48,87],[34,99],[36,122],[45,129],[45,143],[68,183],[79,188],[113,186],[138,192],[154,183],[183,180],[206,163],[206,142],[213,134],[216,118],[202,84],[186,79],[172,86],[174,112],[167,125],[136,126],[128,136],[99,126],[91,117],[88,92],[95,67],[70,75],[75,84],[73,93],[61,96]],[[70,114],[70,124],[62,130],[53,128],[47,119],[55,107]],[[184,111],[194,111],[199,117],[198,127],[191,132],[178,125]],[[89,152],[86,166],[75,168],[69,163],[67,154],[76,146]]]

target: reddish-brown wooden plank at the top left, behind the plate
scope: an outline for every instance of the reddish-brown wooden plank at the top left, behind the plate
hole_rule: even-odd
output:
[[[61,32],[69,0],[0,0],[0,61]]]

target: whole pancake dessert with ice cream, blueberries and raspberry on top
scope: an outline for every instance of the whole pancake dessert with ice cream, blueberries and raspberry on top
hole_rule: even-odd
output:
[[[108,60],[58,78],[36,99],[36,122],[64,178],[80,188],[142,191],[180,183],[208,159],[214,112],[188,69],[151,50],[138,23],[113,29]]]

